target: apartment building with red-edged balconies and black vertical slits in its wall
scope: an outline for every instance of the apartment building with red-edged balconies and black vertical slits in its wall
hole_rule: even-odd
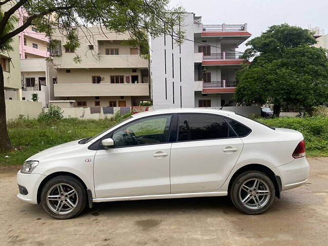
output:
[[[235,106],[236,71],[244,60],[238,46],[251,34],[247,24],[203,25],[187,13],[181,45],[169,35],[151,40],[154,108]]]

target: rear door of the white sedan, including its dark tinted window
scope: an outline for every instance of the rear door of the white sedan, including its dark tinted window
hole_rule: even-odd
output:
[[[171,148],[171,192],[217,191],[227,179],[243,143],[220,115],[181,113]]]

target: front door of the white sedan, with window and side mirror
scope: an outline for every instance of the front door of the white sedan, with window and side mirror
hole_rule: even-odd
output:
[[[171,114],[136,119],[108,136],[94,159],[97,198],[170,194]]]

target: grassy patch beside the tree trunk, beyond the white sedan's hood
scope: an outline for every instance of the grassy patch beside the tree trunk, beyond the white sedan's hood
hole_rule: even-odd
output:
[[[17,149],[0,153],[0,166],[22,165],[30,156],[65,142],[90,137],[116,124],[112,119],[19,119],[8,124],[9,137]],[[8,158],[6,158],[8,156]]]

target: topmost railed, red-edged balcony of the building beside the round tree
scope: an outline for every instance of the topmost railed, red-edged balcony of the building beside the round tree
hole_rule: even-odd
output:
[[[220,37],[250,37],[247,31],[247,23],[238,25],[203,25],[201,36],[220,36]]]

